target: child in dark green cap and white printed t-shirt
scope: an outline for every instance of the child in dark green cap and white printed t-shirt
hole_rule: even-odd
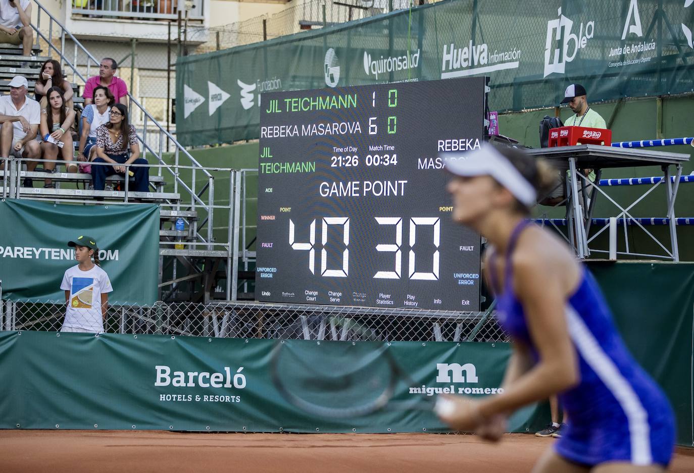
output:
[[[60,289],[65,290],[67,304],[60,332],[103,334],[108,293],[113,288],[99,264],[99,247],[95,239],[84,235],[69,241],[67,246],[74,246],[78,264],[65,271],[60,284]]]

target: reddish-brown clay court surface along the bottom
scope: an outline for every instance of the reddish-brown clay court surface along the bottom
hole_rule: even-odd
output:
[[[0,431],[0,472],[530,472],[555,440],[509,434],[280,434],[161,431]],[[694,472],[677,449],[670,471]]]

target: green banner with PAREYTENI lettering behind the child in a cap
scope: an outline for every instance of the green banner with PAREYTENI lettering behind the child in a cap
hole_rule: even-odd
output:
[[[60,282],[74,266],[67,242],[89,235],[113,286],[110,304],[153,304],[159,279],[158,205],[63,205],[0,202],[3,298],[63,302]]]

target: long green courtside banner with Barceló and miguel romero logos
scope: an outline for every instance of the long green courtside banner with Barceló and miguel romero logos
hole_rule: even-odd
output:
[[[326,419],[301,411],[271,382],[269,365],[276,343],[0,332],[0,429],[445,430],[431,411],[381,410],[349,419]],[[285,345],[290,358],[302,362],[283,369],[296,370],[298,376],[307,361],[326,359],[368,370],[376,350],[389,350],[409,377],[425,386],[417,388],[421,392],[411,392],[404,383],[398,384],[395,399],[406,400],[426,396],[426,388],[450,390],[452,386],[463,392],[490,393],[502,381],[510,352],[505,343],[391,342],[385,346],[380,342],[285,341]],[[89,360],[86,370],[85,360]],[[186,386],[180,386],[181,376]],[[372,395],[369,386],[364,386],[363,395]],[[537,411],[542,415],[535,415]],[[532,431],[541,428],[547,417],[546,408],[531,406],[514,415],[510,427]]]

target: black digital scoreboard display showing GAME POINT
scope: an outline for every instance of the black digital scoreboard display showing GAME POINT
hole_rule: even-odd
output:
[[[440,155],[480,148],[485,88],[263,94],[257,300],[479,310],[480,236],[451,220]]]

